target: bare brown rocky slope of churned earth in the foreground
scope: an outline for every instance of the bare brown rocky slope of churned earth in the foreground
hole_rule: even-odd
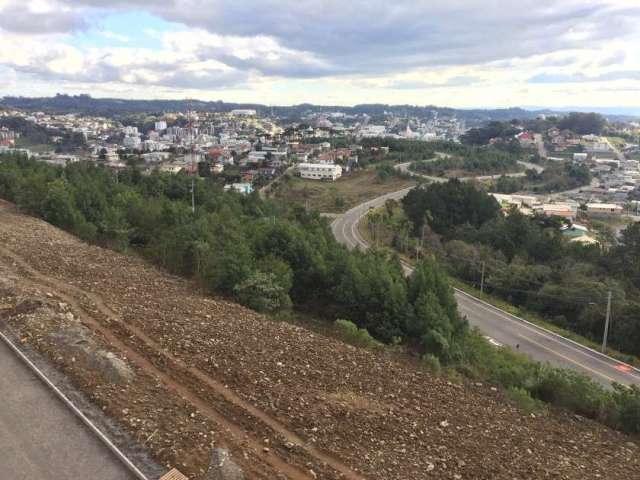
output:
[[[638,439],[206,296],[0,203],[0,325],[161,463],[257,479],[633,479]]]

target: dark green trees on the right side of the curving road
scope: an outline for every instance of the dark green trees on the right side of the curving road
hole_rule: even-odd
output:
[[[602,338],[607,292],[613,292],[609,343],[640,355],[640,224],[622,232],[618,245],[569,242],[558,217],[527,216],[500,205],[471,183],[451,180],[417,188],[403,210],[449,271],[537,312],[556,325],[598,341]]]

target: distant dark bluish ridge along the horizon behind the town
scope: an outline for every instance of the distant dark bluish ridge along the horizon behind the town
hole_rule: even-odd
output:
[[[311,112],[330,113],[340,112],[345,114],[368,114],[379,117],[385,113],[393,113],[400,116],[431,117],[434,112],[438,115],[453,115],[467,121],[471,126],[491,120],[510,120],[513,118],[530,119],[540,114],[563,114],[568,111],[585,111],[583,108],[557,109],[548,108],[525,109],[512,108],[486,108],[486,109],[456,109],[449,107],[437,107],[433,105],[386,105],[386,104],[361,104],[354,106],[327,106],[303,103],[291,106],[268,106],[259,103],[230,103],[223,101],[201,100],[125,100],[117,98],[93,98],[90,95],[61,95],[54,97],[11,97],[0,99],[0,107],[16,108],[29,111],[43,111],[47,113],[81,113],[102,116],[119,116],[139,113],[163,113],[186,111],[190,107],[198,111],[229,112],[234,109],[255,109],[261,114],[276,115],[286,119],[300,118]],[[589,109],[586,109],[589,110]],[[609,111],[607,111],[609,110]],[[598,113],[607,115],[612,120],[626,120],[640,117],[640,108],[620,109],[594,109]],[[624,110],[624,111],[623,111]]]

